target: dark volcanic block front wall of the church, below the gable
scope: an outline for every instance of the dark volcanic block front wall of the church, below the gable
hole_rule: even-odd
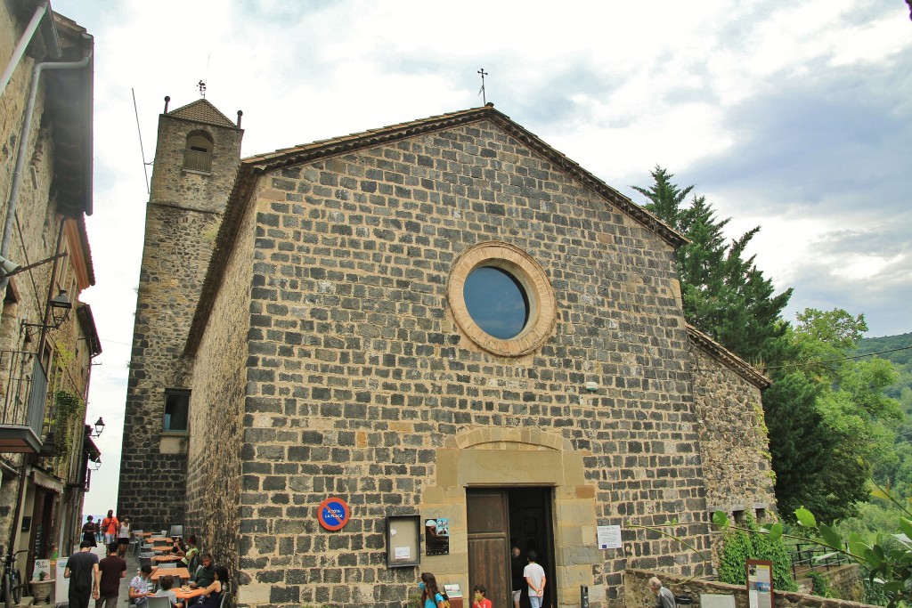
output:
[[[420,512],[436,450],[462,429],[559,433],[587,454],[596,521],[582,525],[677,518],[708,546],[668,242],[486,121],[277,170],[254,204],[253,259],[228,269],[254,268],[239,602],[399,608],[416,574],[386,567],[384,518]],[[494,356],[454,323],[453,263],[485,241],[527,252],[554,288],[554,333],[528,356]],[[207,334],[223,329],[213,315]],[[196,375],[214,369],[204,356]],[[228,477],[233,457],[212,458]],[[204,494],[201,509],[234,496],[230,483]],[[341,531],[316,521],[327,495],[351,507]],[[625,545],[591,566],[603,597],[627,563],[696,559],[646,534]]]

